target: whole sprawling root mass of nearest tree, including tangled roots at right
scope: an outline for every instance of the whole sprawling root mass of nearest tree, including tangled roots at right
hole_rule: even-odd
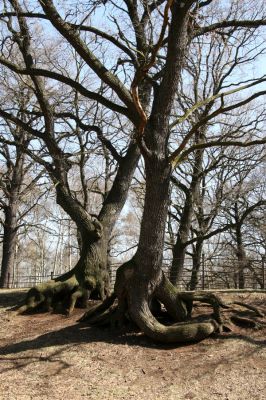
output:
[[[124,264],[117,271],[114,293],[103,303],[88,310],[80,321],[90,325],[122,326],[130,319],[147,336],[164,343],[199,341],[214,332],[229,332],[234,324],[255,329],[260,327],[259,322],[251,318],[238,315],[226,318],[221,314],[221,309],[225,309],[226,314],[236,310],[231,309],[231,304],[225,304],[213,293],[179,292],[162,271],[154,281],[147,281],[146,286],[143,281],[143,277],[142,280],[138,277],[132,261]],[[160,307],[154,309],[154,301],[164,307],[164,314],[171,318],[171,325],[158,321],[157,312]],[[194,302],[212,307],[213,313],[209,320],[190,319]],[[241,302],[232,304],[254,311],[256,316],[262,316],[253,306]]]

